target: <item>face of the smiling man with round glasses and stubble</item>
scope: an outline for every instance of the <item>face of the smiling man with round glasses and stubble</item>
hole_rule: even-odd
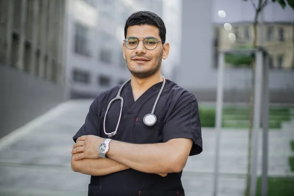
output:
[[[123,43],[123,57],[130,73],[137,78],[147,78],[154,73],[160,72],[162,59],[166,59],[169,53],[169,45],[164,47],[161,42],[157,44],[155,49],[149,50],[144,47],[143,40],[145,38],[156,38],[162,41],[159,36],[159,29],[151,25],[134,25],[127,29],[126,38],[137,38],[139,45],[135,49],[128,49]],[[147,41],[147,40],[146,40]],[[135,42],[132,42],[132,44]],[[151,43],[151,42],[150,42]],[[147,46],[147,42],[146,42]]]

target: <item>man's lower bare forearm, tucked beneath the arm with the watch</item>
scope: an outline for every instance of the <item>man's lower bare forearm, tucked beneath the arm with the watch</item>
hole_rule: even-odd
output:
[[[71,165],[74,172],[97,176],[129,169],[129,167],[108,158],[81,159],[77,161],[72,159]]]

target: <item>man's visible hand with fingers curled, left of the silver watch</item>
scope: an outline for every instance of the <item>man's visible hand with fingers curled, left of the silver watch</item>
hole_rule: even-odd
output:
[[[84,135],[76,140],[73,145],[72,154],[73,160],[81,160],[85,158],[98,159],[100,158],[98,147],[105,139],[95,135]]]

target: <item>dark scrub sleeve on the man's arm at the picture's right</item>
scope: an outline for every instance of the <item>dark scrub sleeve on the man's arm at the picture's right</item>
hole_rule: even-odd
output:
[[[190,156],[202,152],[201,123],[198,102],[193,94],[183,94],[176,102],[163,130],[163,142],[174,138],[190,138],[193,146]]]

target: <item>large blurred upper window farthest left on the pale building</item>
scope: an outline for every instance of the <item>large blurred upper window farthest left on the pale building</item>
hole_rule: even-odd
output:
[[[90,56],[90,30],[86,25],[75,23],[74,51]]]

